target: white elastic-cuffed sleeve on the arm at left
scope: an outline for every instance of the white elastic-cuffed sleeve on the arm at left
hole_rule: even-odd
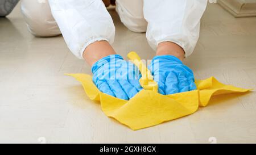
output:
[[[114,23],[101,0],[49,0],[49,4],[65,42],[78,58],[94,41],[113,43]]]

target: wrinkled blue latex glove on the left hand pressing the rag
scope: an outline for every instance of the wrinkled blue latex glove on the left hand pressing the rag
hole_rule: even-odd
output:
[[[131,62],[119,55],[110,55],[92,66],[93,82],[102,93],[129,100],[140,90],[140,73]]]

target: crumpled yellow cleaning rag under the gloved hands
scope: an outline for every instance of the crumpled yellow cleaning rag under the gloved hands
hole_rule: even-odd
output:
[[[193,114],[199,106],[207,106],[213,95],[229,93],[245,93],[251,89],[242,89],[231,85],[224,85],[214,77],[196,80],[197,90],[162,95],[157,92],[157,83],[152,79],[150,71],[141,62],[135,52],[128,57],[139,68],[142,78],[139,80],[143,90],[130,100],[122,100],[105,93],[94,85],[92,77],[88,74],[67,74],[75,77],[82,83],[86,95],[91,100],[98,100],[104,113],[117,119],[133,130],[157,125],[169,120]]]

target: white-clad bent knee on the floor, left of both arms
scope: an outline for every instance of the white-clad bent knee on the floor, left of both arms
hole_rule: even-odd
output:
[[[52,17],[48,0],[22,0],[21,10],[27,23],[28,31],[39,37],[57,36],[61,32]]]

